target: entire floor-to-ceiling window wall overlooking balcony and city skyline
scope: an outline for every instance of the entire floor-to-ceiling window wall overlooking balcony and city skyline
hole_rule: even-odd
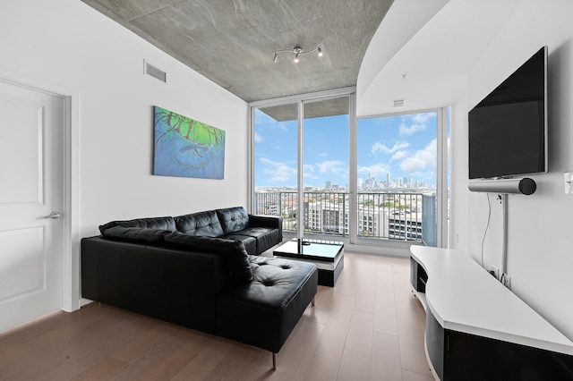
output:
[[[353,101],[252,104],[252,213],[286,237],[447,246],[447,109],[356,122]]]

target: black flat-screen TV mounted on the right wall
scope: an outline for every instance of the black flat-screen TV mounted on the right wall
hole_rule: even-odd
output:
[[[468,114],[469,178],[547,172],[547,47]]]

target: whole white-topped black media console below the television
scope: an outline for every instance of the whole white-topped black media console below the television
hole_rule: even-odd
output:
[[[466,253],[423,246],[410,252],[434,377],[573,380],[573,343]]]

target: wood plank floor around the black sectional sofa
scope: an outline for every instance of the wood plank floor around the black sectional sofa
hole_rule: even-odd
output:
[[[92,303],[1,333],[0,380],[429,381],[424,326],[407,259],[346,252],[276,371],[268,351]]]

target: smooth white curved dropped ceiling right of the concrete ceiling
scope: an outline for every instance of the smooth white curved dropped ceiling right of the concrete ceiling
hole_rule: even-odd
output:
[[[357,116],[456,102],[467,73],[522,1],[394,0],[360,66]],[[404,106],[394,107],[395,99],[405,99]]]

